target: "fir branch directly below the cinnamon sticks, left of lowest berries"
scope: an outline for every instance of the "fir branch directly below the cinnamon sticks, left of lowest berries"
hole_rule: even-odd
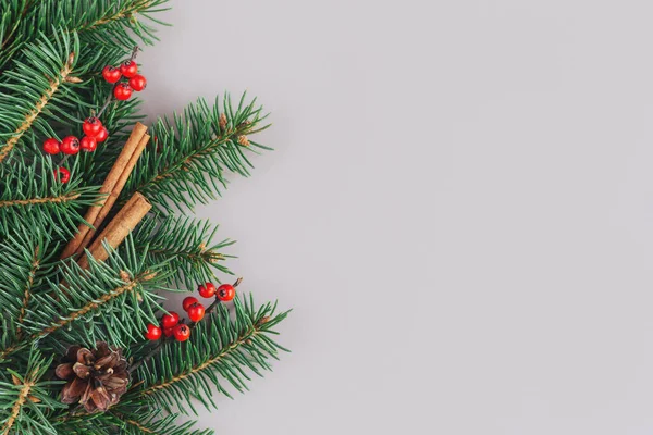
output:
[[[126,260],[111,251],[106,262],[89,258],[88,270],[63,262],[62,282],[34,295],[39,311],[25,319],[28,335],[0,350],[0,361],[54,333],[69,343],[93,345],[102,339],[124,347],[139,339],[145,325],[155,321],[153,312],[161,309],[153,290],[162,287],[159,272],[144,269],[130,238],[126,244],[131,246]],[[83,327],[71,327],[81,319],[85,319]]]

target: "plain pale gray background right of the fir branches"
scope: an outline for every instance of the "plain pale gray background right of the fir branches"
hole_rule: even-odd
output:
[[[149,114],[248,89],[200,208],[293,349],[221,434],[653,433],[650,1],[173,1]]]

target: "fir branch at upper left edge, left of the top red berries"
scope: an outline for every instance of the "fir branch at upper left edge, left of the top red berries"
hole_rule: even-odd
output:
[[[26,141],[29,132],[42,139],[79,130],[83,120],[111,92],[112,87],[101,78],[101,69],[124,60],[125,49],[82,45],[76,33],[59,29],[25,46],[23,58],[0,77],[0,162]],[[136,99],[120,104],[120,109],[116,105],[107,112],[108,127],[116,128],[112,135],[137,117]],[[125,117],[118,117],[123,114]],[[28,157],[40,157],[39,148],[33,147]]]

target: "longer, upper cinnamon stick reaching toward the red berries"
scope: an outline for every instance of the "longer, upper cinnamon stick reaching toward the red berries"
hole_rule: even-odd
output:
[[[111,171],[109,171],[109,175],[107,175],[107,178],[104,179],[104,183],[100,188],[101,195],[111,195],[113,192],[119,179],[121,178],[121,176],[125,172],[125,169],[127,167],[127,164],[130,163],[132,154],[134,154],[134,151],[136,150],[136,148],[138,148],[140,139],[143,138],[146,132],[147,127],[141,123],[137,122],[136,125],[134,125],[134,129],[132,129],[130,138],[125,142],[121,153],[118,156],[118,159],[115,159]],[[104,208],[104,206],[106,202],[99,203],[97,206],[91,206],[86,212],[86,215],[84,216],[84,220],[89,225],[93,225],[94,228],[98,228],[101,224],[101,222],[97,222],[97,217],[100,214],[100,211]],[[104,217],[107,214],[108,212],[104,213]],[[90,227],[88,225],[81,224],[77,227],[77,234],[75,234],[75,237],[73,237],[73,239],[69,241],[69,244],[63,250],[63,253],[61,254],[61,258],[64,259],[70,256],[73,256],[74,253],[82,252],[90,241],[90,239],[86,239],[86,235],[89,231]],[[86,245],[84,245],[84,243],[86,243]]]

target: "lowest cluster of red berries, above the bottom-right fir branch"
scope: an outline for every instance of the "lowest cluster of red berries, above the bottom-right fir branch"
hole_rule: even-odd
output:
[[[215,288],[212,283],[206,283],[200,285],[198,290],[199,296],[202,298],[215,297],[221,302],[229,302],[236,296],[236,289],[231,284],[222,284],[220,287]],[[188,314],[188,320],[193,323],[199,322],[205,316],[205,307],[193,296],[185,298],[182,302],[182,307],[184,308],[184,311],[186,311],[186,314]],[[151,323],[147,325],[145,338],[158,340],[161,338],[161,335],[164,335],[165,337],[174,335],[174,338],[177,341],[186,341],[190,338],[190,327],[183,321],[180,323],[180,314],[171,311],[169,314],[164,314],[161,318],[161,326]]]

